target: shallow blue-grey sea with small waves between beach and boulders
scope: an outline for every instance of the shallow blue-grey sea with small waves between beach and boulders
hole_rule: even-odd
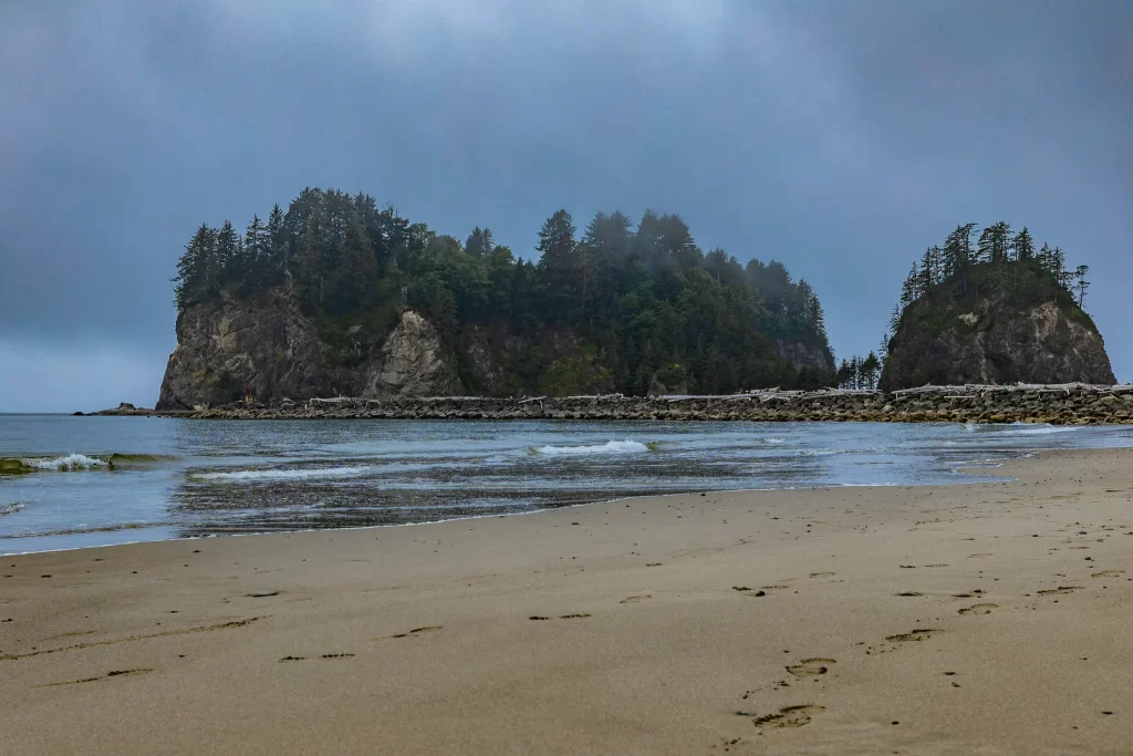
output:
[[[1131,444],[1125,426],[0,415],[0,460],[25,470],[0,475],[0,554],[641,494],[964,483],[1036,450]]]

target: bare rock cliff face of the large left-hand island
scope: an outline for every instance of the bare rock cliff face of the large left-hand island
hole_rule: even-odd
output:
[[[255,299],[225,295],[188,307],[177,318],[177,349],[156,409],[229,405],[244,398],[249,383],[255,400],[270,405],[339,396],[508,397],[534,390],[570,396],[615,389],[597,349],[583,346],[569,328],[517,335],[505,323],[467,325],[445,338],[412,309],[394,317],[392,330],[378,337],[367,337],[363,324],[337,323],[327,343],[283,290]],[[798,367],[829,367],[828,354],[819,350],[792,343],[777,350]],[[687,376],[668,382],[673,385],[666,383],[665,391],[688,390]]]

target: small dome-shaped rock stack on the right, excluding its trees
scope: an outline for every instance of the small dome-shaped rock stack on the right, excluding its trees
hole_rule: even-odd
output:
[[[973,266],[910,303],[881,388],[1076,381],[1116,383],[1101,334],[1039,264],[1008,262]]]

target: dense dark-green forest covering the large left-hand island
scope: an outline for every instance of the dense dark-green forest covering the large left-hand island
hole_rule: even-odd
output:
[[[579,230],[560,210],[535,253],[514,254],[488,228],[460,241],[368,195],[307,188],[242,235],[228,221],[202,224],[178,262],[176,303],[184,311],[286,291],[344,363],[360,359],[359,343],[378,343],[406,307],[450,345],[470,326],[503,329],[528,337],[512,356],[516,391],[545,385],[553,366],[539,343],[563,330],[624,393],[646,393],[658,376],[695,393],[834,382],[811,287],[776,261],[743,265],[723,249],[702,252],[679,215],[646,211],[634,223],[599,212]],[[796,366],[784,343],[819,358]]]

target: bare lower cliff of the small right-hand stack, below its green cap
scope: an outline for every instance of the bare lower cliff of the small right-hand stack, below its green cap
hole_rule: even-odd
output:
[[[889,342],[885,391],[928,383],[1115,383],[1101,334],[1065,303],[969,309],[915,301]]]

